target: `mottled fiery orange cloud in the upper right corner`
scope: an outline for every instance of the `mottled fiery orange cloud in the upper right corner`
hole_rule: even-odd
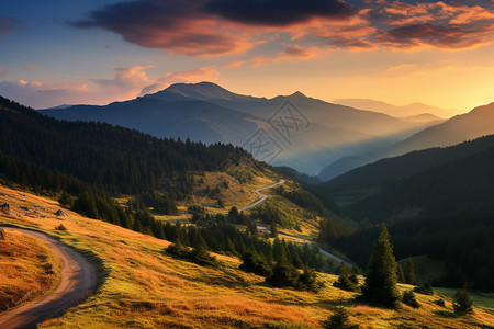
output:
[[[494,42],[492,5],[381,0],[367,15],[379,27],[374,42],[385,47],[461,49]]]

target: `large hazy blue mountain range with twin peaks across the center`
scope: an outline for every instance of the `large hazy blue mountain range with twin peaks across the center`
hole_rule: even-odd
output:
[[[105,106],[41,112],[59,120],[105,122],[157,137],[232,143],[260,160],[311,174],[328,162],[383,148],[431,124],[335,105],[301,92],[272,99],[242,95],[211,82],[177,83]],[[274,159],[249,149],[259,135],[270,143]]]

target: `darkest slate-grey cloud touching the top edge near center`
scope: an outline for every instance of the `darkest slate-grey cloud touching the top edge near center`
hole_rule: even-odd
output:
[[[204,9],[235,22],[265,26],[287,26],[312,18],[346,19],[357,13],[338,0],[211,0]]]

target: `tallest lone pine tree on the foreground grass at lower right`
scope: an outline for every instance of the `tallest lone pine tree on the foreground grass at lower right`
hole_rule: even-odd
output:
[[[383,223],[367,269],[366,284],[362,288],[364,300],[390,307],[397,306],[400,292],[396,288],[395,263],[390,234]]]

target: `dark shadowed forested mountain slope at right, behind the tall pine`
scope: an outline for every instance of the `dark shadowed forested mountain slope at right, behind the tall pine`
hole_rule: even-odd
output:
[[[446,263],[436,284],[494,288],[494,136],[352,170],[313,192],[361,229],[334,241],[364,264],[386,222],[396,257]]]

